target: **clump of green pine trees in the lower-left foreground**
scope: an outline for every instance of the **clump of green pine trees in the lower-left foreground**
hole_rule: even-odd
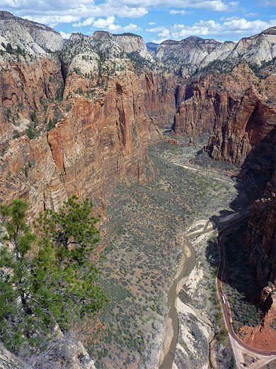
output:
[[[25,341],[43,348],[57,324],[67,331],[104,307],[92,209],[75,196],[57,212],[47,209],[35,221],[38,237],[26,224],[27,202],[1,204],[0,338],[12,351]]]

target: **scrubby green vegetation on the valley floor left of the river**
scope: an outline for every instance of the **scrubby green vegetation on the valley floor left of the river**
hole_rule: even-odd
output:
[[[227,196],[219,196],[229,183],[173,165],[180,155],[183,161],[187,160],[183,149],[168,143],[151,145],[146,184],[118,184],[107,199],[102,244],[112,248],[112,252],[106,255],[100,282],[110,303],[98,316],[100,323],[86,321],[80,328],[97,368],[123,368],[127,360],[146,368],[163,316],[168,312],[166,294],[182,255],[183,229],[197,216],[209,216],[210,209],[227,209],[229,200],[236,197],[231,190]],[[214,199],[209,197],[213,189],[217,194]],[[214,251],[217,254],[212,254],[213,268],[219,260],[217,245]],[[214,285],[214,280],[210,276],[202,283],[206,286],[202,304],[209,314],[216,304],[206,302],[208,284]],[[194,326],[192,331],[199,336]],[[105,349],[107,355],[103,356]]]

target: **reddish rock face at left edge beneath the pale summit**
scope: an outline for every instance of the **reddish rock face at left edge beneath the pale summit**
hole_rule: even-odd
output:
[[[31,111],[45,111],[47,100],[55,99],[62,87],[62,71],[57,57],[0,57],[0,147],[15,132],[31,125]],[[39,113],[38,113],[39,114]]]

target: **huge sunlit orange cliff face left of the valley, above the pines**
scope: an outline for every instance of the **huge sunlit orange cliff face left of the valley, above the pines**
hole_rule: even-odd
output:
[[[110,185],[142,180],[147,132],[137,76],[128,71],[114,77],[98,98],[73,94],[81,83],[79,76],[69,77],[64,96],[70,97],[59,106],[64,117],[51,131],[11,141],[0,159],[1,197],[28,198],[33,215],[43,207],[57,209],[71,194],[96,198],[104,208]]]

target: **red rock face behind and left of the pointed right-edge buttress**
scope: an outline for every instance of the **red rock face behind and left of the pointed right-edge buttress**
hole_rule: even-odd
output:
[[[195,77],[185,86],[184,101],[178,106],[173,123],[176,135],[194,136],[214,132],[228,124],[236,114],[244,91],[258,84],[247,65],[238,65],[231,73],[214,72]]]

